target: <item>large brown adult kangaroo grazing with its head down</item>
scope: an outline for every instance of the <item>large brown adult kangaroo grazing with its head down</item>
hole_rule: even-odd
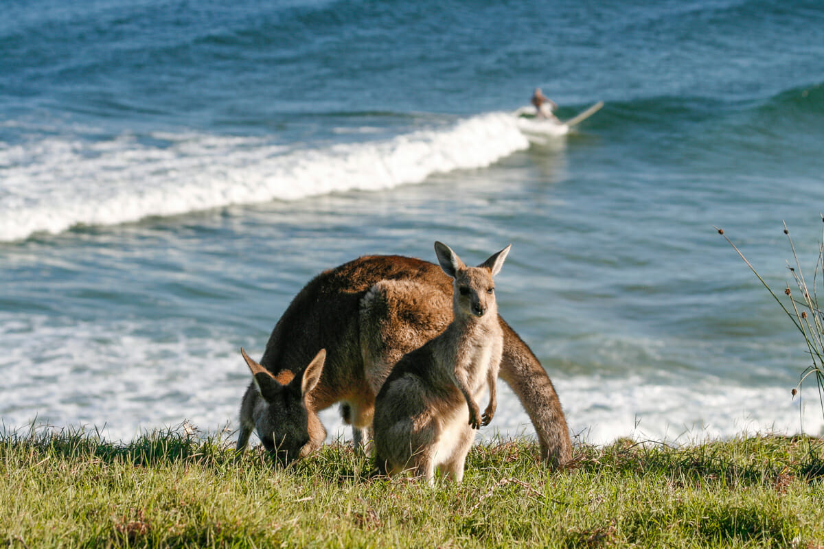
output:
[[[378,284],[385,300],[370,306],[365,298]],[[503,329],[499,375],[527,411],[541,457],[552,468],[563,467],[572,444],[555,387],[527,344],[500,316],[498,320]],[[291,384],[307,375],[307,365],[325,349],[321,379],[314,388],[295,382],[292,390],[271,402],[248,396],[259,392],[252,380],[243,402],[252,398],[258,417],[275,418],[258,425],[258,436],[273,444],[277,440],[283,448],[299,448],[288,453],[289,460],[304,457],[326,437],[317,412],[340,402],[347,412],[344,419],[353,426],[353,439],[361,444],[364,430],[372,425],[375,396],[392,366],[451,322],[452,279],[434,263],[372,255],[321,272],[283,312],[260,359],[275,381]],[[248,359],[247,364],[251,368],[258,363]],[[303,392],[305,388],[310,390]],[[278,419],[281,416],[289,419]],[[241,419],[238,450],[246,447],[254,428]]]

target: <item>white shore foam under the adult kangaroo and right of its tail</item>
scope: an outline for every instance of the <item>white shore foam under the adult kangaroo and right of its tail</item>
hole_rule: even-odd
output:
[[[554,384],[572,435],[589,444],[610,444],[622,437],[689,444],[740,435],[793,435],[802,432],[801,407],[803,432],[824,434],[817,396],[792,398],[787,387],[719,384],[719,379],[697,386],[691,379],[658,385],[634,377],[601,379],[597,375],[554,379]],[[478,439],[533,436],[527,412],[503,382],[499,382],[498,398],[494,423],[480,430]],[[321,418],[330,439],[350,436],[335,412],[325,412]]]

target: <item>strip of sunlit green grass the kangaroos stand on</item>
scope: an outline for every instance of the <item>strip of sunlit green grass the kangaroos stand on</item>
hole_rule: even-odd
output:
[[[461,485],[370,479],[333,444],[287,469],[220,437],[0,436],[0,547],[824,547],[816,440],[472,449]]]

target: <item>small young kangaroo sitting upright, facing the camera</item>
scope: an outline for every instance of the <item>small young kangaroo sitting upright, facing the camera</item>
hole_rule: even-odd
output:
[[[475,429],[495,413],[503,329],[493,277],[511,244],[478,267],[466,267],[445,244],[435,243],[441,268],[453,278],[454,319],[446,330],[403,356],[375,400],[375,467],[394,475],[411,469],[434,482],[435,468],[463,478]],[[489,387],[483,416],[476,402]]]

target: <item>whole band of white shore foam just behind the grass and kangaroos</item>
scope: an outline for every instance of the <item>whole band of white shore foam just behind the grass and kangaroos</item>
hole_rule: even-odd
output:
[[[203,430],[237,428],[237,412],[249,382],[236,348],[219,333],[183,335],[180,319],[168,321],[161,340],[130,321],[88,323],[46,316],[0,316],[0,419],[6,429],[31,421],[97,427],[110,440],[131,440],[146,430],[189,420]],[[254,342],[247,342],[253,354]],[[257,350],[260,353],[260,349]],[[608,444],[619,437],[686,443],[744,433],[801,430],[819,435],[824,420],[817,394],[806,403],[788,387],[753,387],[707,376],[651,383],[638,376],[553,375],[569,427],[580,439]],[[492,426],[480,431],[533,435],[512,391],[499,383]],[[483,404],[482,404],[483,406]],[[328,439],[351,431],[337,407],[321,413]]]

